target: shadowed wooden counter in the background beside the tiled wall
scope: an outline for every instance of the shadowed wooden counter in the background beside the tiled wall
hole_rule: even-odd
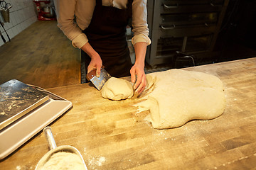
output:
[[[0,73],[0,84],[10,79],[42,88],[80,84],[80,50],[57,21],[37,21],[0,47]]]

